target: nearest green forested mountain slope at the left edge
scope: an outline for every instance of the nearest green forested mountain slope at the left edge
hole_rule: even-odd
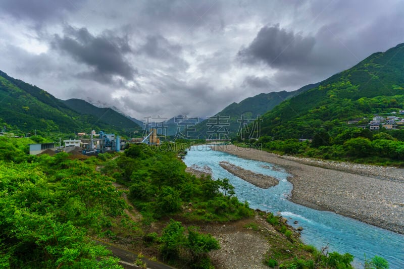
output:
[[[139,129],[133,123],[127,128],[117,124],[110,125],[89,114],[72,110],[52,94],[24,81],[12,78],[0,71],[0,118],[1,122],[21,132],[37,130],[49,132],[89,132],[97,131],[123,133]],[[125,126],[126,127],[126,126]]]

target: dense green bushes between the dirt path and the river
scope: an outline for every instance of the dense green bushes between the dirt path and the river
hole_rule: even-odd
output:
[[[233,196],[228,179],[214,181],[185,172],[178,155],[187,146],[131,145],[116,160],[116,167],[107,164],[103,171],[126,184],[135,206],[157,219],[173,216],[189,203],[192,208],[184,213],[189,220],[229,221],[251,216],[251,209]]]

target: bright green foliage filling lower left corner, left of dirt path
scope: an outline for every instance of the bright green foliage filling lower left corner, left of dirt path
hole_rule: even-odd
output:
[[[10,152],[18,155],[20,142],[0,143],[13,145]],[[123,212],[125,203],[110,179],[66,154],[25,159],[31,163],[22,154],[19,162],[0,160],[0,264],[120,268],[104,246],[88,238]]]

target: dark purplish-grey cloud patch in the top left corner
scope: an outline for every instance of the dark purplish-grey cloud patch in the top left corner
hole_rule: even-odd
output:
[[[45,20],[63,16],[66,12],[76,11],[81,7],[82,0],[2,0],[1,11],[19,20],[29,19],[41,24]]]

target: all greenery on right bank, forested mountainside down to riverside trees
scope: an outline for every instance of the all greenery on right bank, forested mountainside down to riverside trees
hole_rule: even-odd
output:
[[[274,141],[259,141],[263,148],[302,156],[402,165],[398,160],[404,156],[404,129],[372,132],[356,125],[367,126],[374,115],[398,115],[404,110],[404,70],[400,64],[404,60],[403,47],[399,44],[374,53],[268,111],[262,117],[260,135]],[[356,125],[347,124],[354,120]],[[250,137],[258,137],[257,132],[250,133]],[[312,143],[299,143],[297,139],[312,139]],[[241,137],[236,141],[248,143]],[[254,140],[249,144],[258,143]]]

